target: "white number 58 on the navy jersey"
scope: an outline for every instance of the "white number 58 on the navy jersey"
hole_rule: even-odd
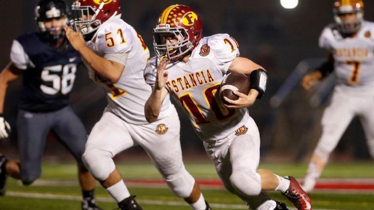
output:
[[[62,75],[60,77],[58,72],[61,71]],[[63,95],[70,93],[71,89],[73,89],[76,71],[77,64],[55,65],[43,68],[41,78],[45,82],[52,82],[52,87],[41,84],[40,90],[47,95],[56,95],[60,91]]]

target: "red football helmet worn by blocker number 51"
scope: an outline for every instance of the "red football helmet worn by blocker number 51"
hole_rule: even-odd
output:
[[[120,0],[76,0],[71,9],[70,21],[75,31],[86,35],[96,31],[108,19],[121,14]]]

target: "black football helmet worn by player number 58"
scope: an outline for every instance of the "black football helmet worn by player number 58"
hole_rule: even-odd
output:
[[[63,0],[41,0],[35,8],[35,20],[39,25],[39,33],[42,38],[51,43],[55,43],[65,37],[65,30],[62,27],[46,29],[43,21],[52,20],[53,18],[65,18],[68,23],[70,15],[69,7]]]

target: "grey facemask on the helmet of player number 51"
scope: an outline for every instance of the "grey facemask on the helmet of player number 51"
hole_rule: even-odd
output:
[[[79,1],[74,1],[71,7],[73,11],[73,19],[70,21],[71,27],[83,36],[96,31],[102,24],[100,20],[96,19],[102,7],[104,7],[104,2],[100,4],[98,9],[95,9],[92,6],[80,6]]]

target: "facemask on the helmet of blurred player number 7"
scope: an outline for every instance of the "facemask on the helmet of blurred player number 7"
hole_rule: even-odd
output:
[[[352,6],[340,6],[339,8],[333,9],[334,19],[338,24],[339,30],[343,34],[353,34],[361,29],[362,23],[364,22],[364,11],[361,9],[352,8]],[[356,20],[354,21],[343,21],[342,15],[345,14],[356,14]]]

